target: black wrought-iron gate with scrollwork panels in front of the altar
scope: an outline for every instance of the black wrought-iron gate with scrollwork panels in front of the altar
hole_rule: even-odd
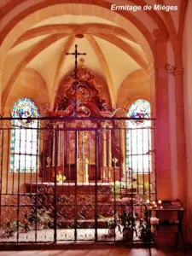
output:
[[[153,119],[1,122],[1,243],[145,241]]]

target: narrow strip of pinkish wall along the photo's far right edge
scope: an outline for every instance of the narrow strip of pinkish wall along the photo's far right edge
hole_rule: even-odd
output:
[[[187,204],[188,204],[188,240],[192,242],[192,33],[191,33],[192,1],[188,1],[183,34],[183,68],[184,68],[184,110],[185,110],[185,135],[187,149]]]

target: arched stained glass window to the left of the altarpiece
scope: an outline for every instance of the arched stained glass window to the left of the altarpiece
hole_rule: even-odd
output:
[[[38,107],[27,98],[15,102],[10,140],[10,172],[38,171]]]

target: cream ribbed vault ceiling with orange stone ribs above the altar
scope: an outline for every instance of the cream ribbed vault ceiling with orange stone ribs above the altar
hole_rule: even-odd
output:
[[[77,34],[84,38],[77,38]],[[148,61],[135,38],[113,22],[98,17],[63,15],[37,23],[9,50],[3,68],[3,89],[11,90],[22,70],[30,67],[44,78],[49,97],[61,78],[74,67],[74,45],[86,52],[84,66],[108,84],[115,102],[120,85],[139,69],[148,75]]]

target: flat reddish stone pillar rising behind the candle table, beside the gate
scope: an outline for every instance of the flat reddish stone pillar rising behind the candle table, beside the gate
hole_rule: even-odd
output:
[[[166,71],[167,38],[154,30],[154,68],[155,68],[155,148],[157,195],[161,199],[172,198],[172,178],[170,161],[168,74]]]

